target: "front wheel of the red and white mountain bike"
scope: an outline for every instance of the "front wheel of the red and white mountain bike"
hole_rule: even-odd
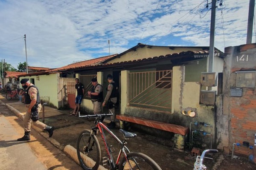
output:
[[[101,161],[99,141],[95,135],[90,136],[90,130],[83,130],[78,138],[77,156],[84,170],[97,170]]]

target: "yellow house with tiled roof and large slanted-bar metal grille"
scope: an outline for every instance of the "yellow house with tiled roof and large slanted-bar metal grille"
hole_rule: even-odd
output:
[[[214,73],[208,77],[206,72],[209,65],[209,47],[138,44],[101,64],[70,69],[70,71],[76,72],[78,74],[76,77],[80,79],[97,76],[104,91],[108,85],[106,76],[113,74],[114,81],[119,85],[121,114],[186,127],[191,123],[204,122],[210,127],[192,126],[192,130],[201,128],[200,130],[209,134],[204,137],[204,142],[210,145],[215,144],[217,133],[215,94],[221,92],[222,86],[216,83],[202,86],[201,78],[206,75],[217,82],[219,74],[221,80],[223,57],[224,54],[215,48]],[[86,92],[90,90],[90,82],[84,83],[84,86],[88,87]],[[82,106],[92,109],[90,98],[84,99]],[[196,116],[194,118],[185,116],[182,114],[183,111],[194,111]],[[152,131],[148,127],[140,128],[164,134],[157,130]]]

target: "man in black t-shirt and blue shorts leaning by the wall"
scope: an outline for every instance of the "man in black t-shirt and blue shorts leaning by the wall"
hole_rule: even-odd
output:
[[[77,91],[77,96],[75,100],[76,106],[74,108],[74,111],[70,113],[70,115],[78,116],[80,105],[84,96],[84,85],[81,82],[79,82],[78,78],[76,78],[75,81],[76,81],[76,91]]]

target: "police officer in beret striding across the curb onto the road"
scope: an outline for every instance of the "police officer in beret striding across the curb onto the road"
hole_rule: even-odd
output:
[[[27,111],[23,119],[23,125],[25,134],[22,138],[17,139],[17,141],[29,141],[30,140],[30,127],[31,127],[31,120],[33,119],[31,113],[33,111],[39,113],[41,110],[41,102],[38,88],[29,82],[29,79],[22,79],[20,81],[23,89],[25,90],[25,104],[27,105]],[[38,115],[39,116],[39,115]],[[31,119],[32,118],[32,119]],[[34,122],[35,121],[35,122]],[[53,134],[53,127],[47,126],[42,122],[39,122],[38,119],[33,119],[34,125],[41,128],[42,130],[47,130],[49,133],[49,137],[52,137]]]

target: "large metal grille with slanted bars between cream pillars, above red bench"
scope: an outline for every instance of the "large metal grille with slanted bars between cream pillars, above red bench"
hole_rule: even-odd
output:
[[[129,74],[129,105],[171,112],[172,70]]]

